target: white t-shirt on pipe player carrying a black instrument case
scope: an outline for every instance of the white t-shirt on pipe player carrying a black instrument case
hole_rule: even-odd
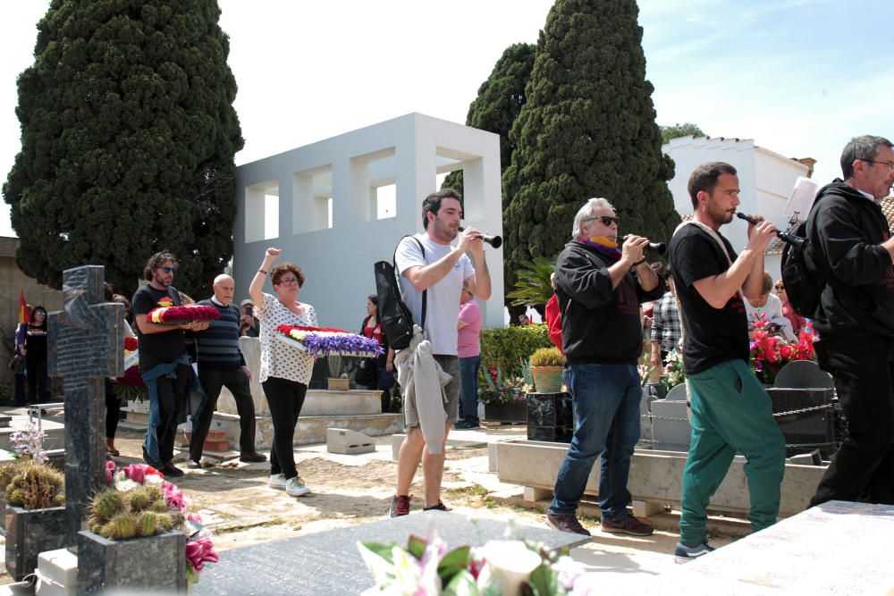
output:
[[[402,273],[409,267],[436,263],[456,248],[449,244],[438,244],[426,234],[417,234],[414,238],[422,242],[422,246],[426,248],[426,256],[422,256],[415,239],[404,238],[398,245],[394,261],[401,280],[401,298],[413,314],[413,322],[419,324],[422,321],[422,292],[417,291]],[[453,265],[450,273],[428,289],[426,332],[428,340],[432,342],[434,354],[457,355],[456,322],[460,317],[460,291],[462,282],[474,274],[472,261],[468,255],[463,255]]]

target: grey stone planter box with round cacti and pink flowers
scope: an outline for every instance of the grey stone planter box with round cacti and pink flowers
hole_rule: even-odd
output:
[[[78,534],[79,592],[186,592],[205,563],[217,560],[201,518],[188,513],[183,493],[155,468],[108,466],[111,485],[94,497],[89,530]]]

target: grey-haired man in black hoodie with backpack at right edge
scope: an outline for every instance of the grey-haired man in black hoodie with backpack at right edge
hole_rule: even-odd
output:
[[[811,505],[894,504],[894,239],[879,205],[894,183],[888,139],[856,137],[841,153],[844,180],[820,189],[805,254],[822,294],[812,314],[822,369],[835,379],[848,437]]]

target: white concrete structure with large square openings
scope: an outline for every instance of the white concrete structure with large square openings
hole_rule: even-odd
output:
[[[464,224],[502,235],[500,138],[484,130],[410,113],[241,165],[236,298],[248,295],[266,248],[283,248],[281,260],[307,275],[299,299],[315,306],[320,325],[357,331],[375,293],[373,264],[423,230],[422,199],[438,189],[438,174],[455,170],[463,172]],[[392,185],[395,206],[384,214]],[[493,287],[481,303],[485,326],[502,326],[502,249],[485,247],[485,256]],[[273,291],[269,281],[265,291]]]

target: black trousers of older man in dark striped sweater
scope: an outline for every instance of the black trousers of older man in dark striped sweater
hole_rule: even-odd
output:
[[[236,411],[239,413],[239,450],[244,455],[255,450],[255,404],[251,400],[249,375],[241,368],[232,371],[208,371],[199,366],[198,382],[205,390],[205,399],[198,407],[198,415],[192,420],[192,437],[190,438],[190,459],[198,461],[202,458],[202,446],[211,428],[211,420],[217,407],[221,388],[226,387],[236,400]]]

